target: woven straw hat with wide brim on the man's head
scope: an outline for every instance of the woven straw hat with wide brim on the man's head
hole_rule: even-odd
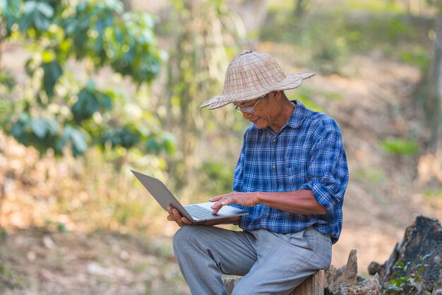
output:
[[[255,100],[272,91],[298,88],[302,80],[315,74],[296,73],[285,76],[272,56],[246,50],[229,64],[222,93],[210,98],[201,107],[217,109],[231,102]]]

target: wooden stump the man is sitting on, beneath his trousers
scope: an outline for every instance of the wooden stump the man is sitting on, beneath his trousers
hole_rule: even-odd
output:
[[[232,290],[241,277],[222,278],[227,294],[232,294]],[[325,287],[325,272],[318,270],[314,275],[307,277],[302,284],[296,287],[289,295],[323,295]]]

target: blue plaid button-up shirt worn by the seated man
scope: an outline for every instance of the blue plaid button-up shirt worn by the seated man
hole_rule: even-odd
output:
[[[242,192],[313,191],[325,215],[297,215],[265,205],[246,207],[239,227],[267,229],[281,234],[313,227],[338,241],[342,202],[348,182],[347,157],[338,124],[330,116],[296,107],[278,133],[249,126],[234,171],[233,189]]]

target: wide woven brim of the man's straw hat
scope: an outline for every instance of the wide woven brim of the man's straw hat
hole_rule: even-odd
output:
[[[266,95],[272,91],[283,91],[298,88],[302,84],[302,80],[315,76],[316,73],[295,73],[288,75],[287,78],[277,83],[273,83],[268,87],[258,88],[253,91],[239,92],[239,93],[222,93],[210,98],[207,102],[201,104],[201,108],[209,107],[209,109],[218,109],[224,107],[232,102],[246,102],[248,100],[255,100],[258,97]]]

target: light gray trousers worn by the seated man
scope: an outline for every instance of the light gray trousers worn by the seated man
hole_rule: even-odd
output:
[[[295,234],[230,231],[185,226],[174,236],[174,254],[194,295],[226,294],[221,276],[244,276],[233,294],[289,294],[294,287],[327,269],[330,236],[313,228]]]

